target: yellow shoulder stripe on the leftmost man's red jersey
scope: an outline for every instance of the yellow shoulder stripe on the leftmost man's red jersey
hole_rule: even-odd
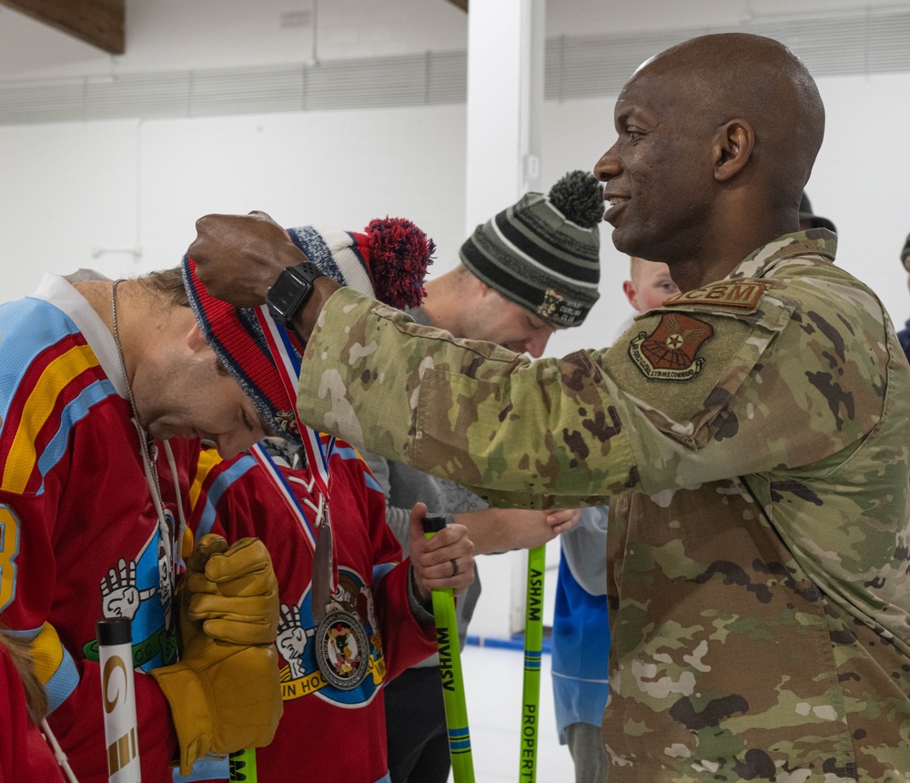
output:
[[[76,345],[50,362],[28,395],[22,420],[13,444],[6,455],[2,487],[6,492],[22,493],[35,470],[35,434],[56,408],[57,396],[66,385],[86,370],[96,367],[95,351],[87,345]]]

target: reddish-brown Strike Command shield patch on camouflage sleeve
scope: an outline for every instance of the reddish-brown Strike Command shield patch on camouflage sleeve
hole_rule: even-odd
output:
[[[678,312],[664,313],[651,334],[639,332],[629,356],[649,381],[691,381],[704,367],[698,351],[714,336],[711,324]]]

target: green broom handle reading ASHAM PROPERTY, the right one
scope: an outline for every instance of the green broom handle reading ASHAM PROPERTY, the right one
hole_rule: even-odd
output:
[[[528,592],[524,622],[524,685],[521,690],[521,783],[537,780],[537,736],[541,723],[541,650],[543,649],[543,571],[547,548],[528,551]]]

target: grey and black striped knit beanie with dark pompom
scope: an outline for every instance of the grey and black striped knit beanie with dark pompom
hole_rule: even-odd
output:
[[[478,226],[461,263],[551,326],[580,326],[599,296],[603,208],[597,179],[570,171]]]

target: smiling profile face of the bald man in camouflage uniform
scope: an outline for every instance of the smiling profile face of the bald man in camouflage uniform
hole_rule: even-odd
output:
[[[604,219],[623,253],[670,262],[699,247],[713,173],[711,134],[696,106],[665,65],[640,69],[617,99],[618,138],[594,174],[606,183]]]

